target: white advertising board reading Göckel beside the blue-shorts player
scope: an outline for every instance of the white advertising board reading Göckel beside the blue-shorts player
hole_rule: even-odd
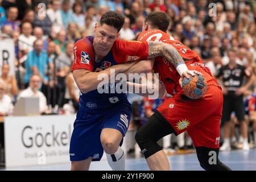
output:
[[[76,115],[5,118],[6,167],[69,162]]]

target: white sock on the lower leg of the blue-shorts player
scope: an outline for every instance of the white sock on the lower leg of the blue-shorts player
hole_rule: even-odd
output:
[[[119,147],[115,154],[106,154],[109,166],[113,171],[125,171],[125,152]]]

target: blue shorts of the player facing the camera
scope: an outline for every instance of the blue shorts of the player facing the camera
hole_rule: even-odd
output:
[[[101,130],[117,129],[125,137],[130,118],[131,105],[127,101],[101,113],[79,109],[69,148],[70,160],[79,161],[89,157],[93,158],[92,161],[101,160],[104,151],[100,140]]]

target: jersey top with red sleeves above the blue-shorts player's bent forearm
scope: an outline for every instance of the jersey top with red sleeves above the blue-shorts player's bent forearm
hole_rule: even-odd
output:
[[[108,55],[96,63],[93,49],[93,36],[87,36],[75,43],[74,61],[71,71],[75,69],[87,69],[93,72],[96,68],[106,69],[115,64],[126,61],[137,61],[147,59],[148,44],[141,41],[123,41],[117,39]],[[100,65],[98,65],[100,64]]]

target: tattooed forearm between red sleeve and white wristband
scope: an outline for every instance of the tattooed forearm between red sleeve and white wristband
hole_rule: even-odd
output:
[[[154,57],[166,57],[166,59],[174,65],[176,68],[178,64],[184,63],[183,58],[180,56],[180,53],[170,44],[162,42],[148,42],[148,59]]]

